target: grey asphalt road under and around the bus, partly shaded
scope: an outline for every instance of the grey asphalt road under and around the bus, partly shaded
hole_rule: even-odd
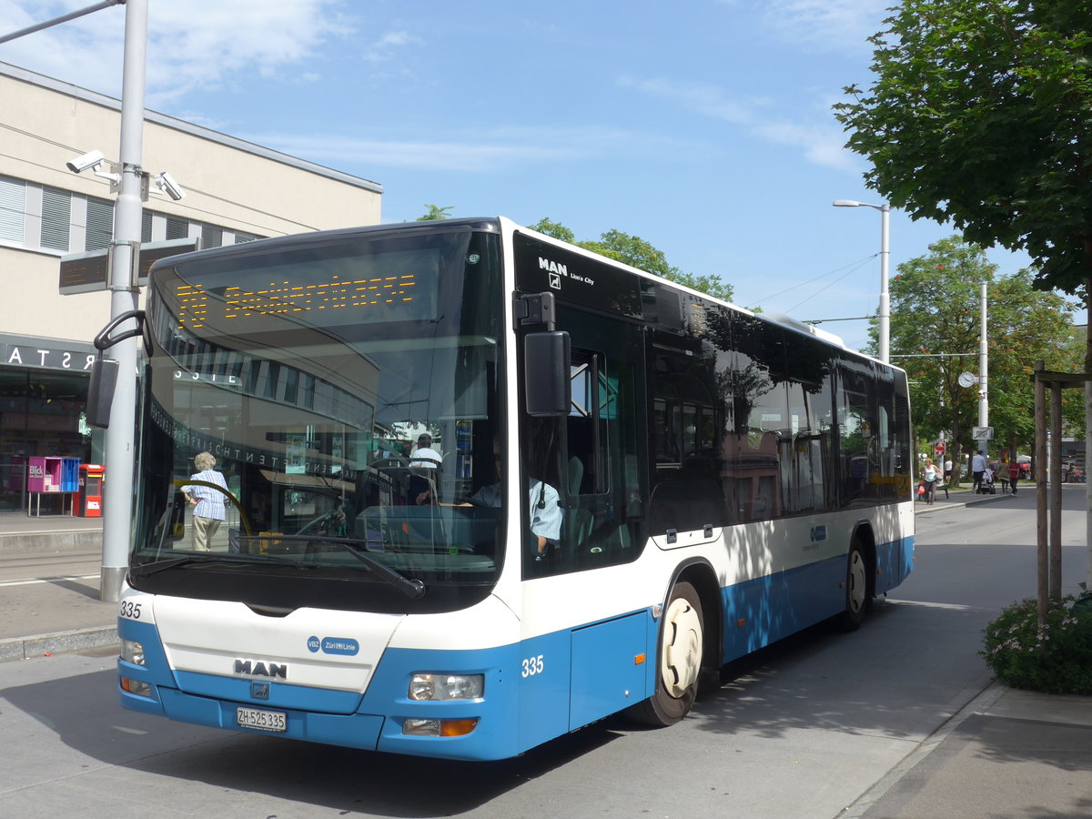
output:
[[[1084,578],[1066,492],[1064,587]],[[610,720],[513,760],[454,763],[216,732],[122,711],[112,649],[0,664],[0,817],[831,819],[980,695],[981,630],[1035,591],[1033,492],[919,518],[915,571],[852,634],[736,664],[661,731]],[[868,816],[865,814],[864,816]]]

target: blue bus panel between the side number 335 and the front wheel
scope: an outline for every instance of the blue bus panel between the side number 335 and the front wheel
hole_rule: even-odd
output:
[[[572,632],[570,731],[645,699],[648,620],[642,612]]]

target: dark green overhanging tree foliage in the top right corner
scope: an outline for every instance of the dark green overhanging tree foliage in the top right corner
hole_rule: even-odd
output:
[[[902,0],[875,82],[835,105],[870,188],[913,218],[1026,250],[1042,289],[1092,277],[1088,0]]]

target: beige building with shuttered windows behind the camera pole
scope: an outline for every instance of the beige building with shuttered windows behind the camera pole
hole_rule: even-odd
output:
[[[0,103],[0,513],[26,513],[29,459],[102,460],[103,434],[84,410],[110,298],[61,295],[59,282],[62,258],[109,247],[110,181],[66,164],[90,151],[117,159],[121,103],[4,63]],[[169,171],[187,194],[149,198],[145,244],[209,248],[380,222],[376,182],[154,111],[142,154],[144,170]],[[60,498],[35,500],[61,511]]]

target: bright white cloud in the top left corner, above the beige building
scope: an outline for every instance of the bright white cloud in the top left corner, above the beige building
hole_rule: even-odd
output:
[[[300,63],[323,41],[352,32],[344,7],[344,0],[150,2],[147,103],[230,82],[245,70],[270,75]],[[0,0],[0,20],[15,31],[81,8],[85,0]],[[124,20],[124,5],[97,11],[12,40],[0,47],[0,60],[119,96]]]

